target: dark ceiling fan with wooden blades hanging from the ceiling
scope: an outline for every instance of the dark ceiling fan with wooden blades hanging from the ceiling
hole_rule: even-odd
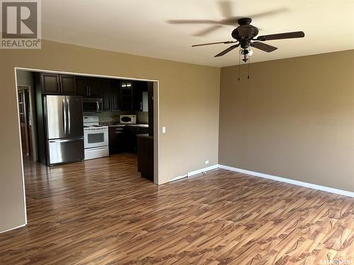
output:
[[[236,47],[241,47],[240,54],[244,56],[243,61],[247,61],[247,55],[251,55],[251,50],[249,49],[251,47],[255,47],[257,49],[261,49],[264,52],[273,52],[275,49],[278,49],[277,47],[267,45],[263,43],[263,41],[266,40],[282,40],[282,39],[292,39],[292,38],[297,38],[297,37],[304,37],[304,32],[302,31],[295,31],[291,33],[278,33],[278,34],[270,34],[270,35],[262,35],[258,36],[258,28],[255,26],[251,25],[252,19],[251,18],[239,18],[237,20],[237,23],[239,26],[232,30],[232,37],[235,40],[229,40],[225,42],[210,42],[210,43],[205,43],[205,44],[200,44],[200,45],[192,45],[192,47],[197,47],[197,46],[205,46],[205,45],[215,45],[215,44],[232,44],[236,43],[235,45],[232,45],[228,47],[227,49],[224,49],[222,52],[219,54],[215,55],[215,57],[220,57],[224,54],[227,54],[228,52],[231,52],[233,49]],[[256,37],[256,38],[255,38]]]

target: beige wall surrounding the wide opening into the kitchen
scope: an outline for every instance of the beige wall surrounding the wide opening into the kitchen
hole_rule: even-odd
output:
[[[159,80],[162,182],[217,164],[219,72],[210,66],[105,52],[57,42],[0,50],[0,231],[25,221],[14,67]]]

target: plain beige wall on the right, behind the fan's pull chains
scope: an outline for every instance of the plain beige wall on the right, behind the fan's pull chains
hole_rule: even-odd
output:
[[[222,68],[219,164],[354,192],[354,50]]]

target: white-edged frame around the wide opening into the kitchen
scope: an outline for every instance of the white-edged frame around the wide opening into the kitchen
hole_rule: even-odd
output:
[[[156,79],[146,79],[146,78],[135,78],[135,77],[126,77],[126,76],[108,76],[108,75],[100,75],[94,73],[75,73],[68,71],[53,71],[47,69],[32,69],[32,68],[23,68],[15,66],[15,89],[16,89],[16,105],[17,105],[17,117],[18,117],[18,134],[20,141],[20,150],[21,150],[21,173],[22,173],[22,186],[23,186],[23,204],[25,208],[25,225],[27,225],[27,208],[25,202],[25,176],[24,176],[24,168],[23,168],[23,155],[22,155],[22,146],[21,146],[21,124],[20,124],[20,114],[18,109],[18,83],[17,83],[17,70],[21,71],[35,71],[42,73],[58,73],[58,74],[69,74],[75,76],[90,76],[90,77],[101,77],[101,78],[112,78],[112,79],[125,79],[132,81],[150,81],[154,83],[154,183],[161,184],[161,175],[160,175],[160,130],[159,130],[159,117],[160,117],[160,100],[159,100],[159,80]]]

